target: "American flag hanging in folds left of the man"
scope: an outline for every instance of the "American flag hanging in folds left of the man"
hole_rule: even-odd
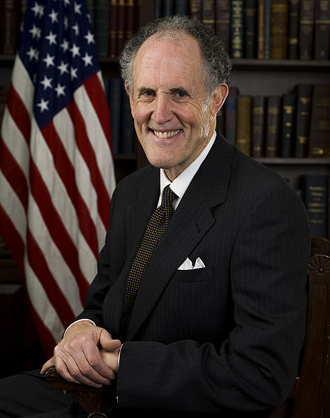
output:
[[[96,274],[115,186],[109,110],[84,0],[27,1],[0,170],[0,234],[50,355]]]

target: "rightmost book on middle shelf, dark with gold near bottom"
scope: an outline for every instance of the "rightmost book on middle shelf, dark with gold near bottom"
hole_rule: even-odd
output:
[[[330,84],[313,86],[308,156],[330,156]]]

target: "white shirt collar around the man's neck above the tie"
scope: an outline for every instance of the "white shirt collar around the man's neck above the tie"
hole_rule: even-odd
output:
[[[195,174],[197,173],[198,169],[200,168],[200,165],[202,165],[202,162],[207,157],[207,154],[209,154],[209,151],[214,144],[214,141],[216,140],[216,131],[214,131],[211,140],[209,140],[209,143],[207,146],[203,149],[203,151],[200,153],[199,156],[188,165],[186,170],[183,170],[181,174],[172,181],[167,179],[166,174],[163,169],[160,169],[160,197],[158,200],[158,206],[161,203],[161,196],[163,195],[163,189],[167,184],[171,185],[172,191],[179,197],[179,199],[174,200],[174,209],[176,209],[177,204],[179,204],[179,201],[183,197],[184,193],[186,192],[190,182],[193,180]]]

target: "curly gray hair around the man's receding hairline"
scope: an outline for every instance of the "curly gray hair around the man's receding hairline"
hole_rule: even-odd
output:
[[[182,33],[192,36],[200,45],[202,64],[204,69],[204,86],[207,99],[222,83],[229,84],[232,64],[230,57],[223,47],[223,42],[202,22],[190,19],[188,16],[167,16],[148,23],[140,28],[133,38],[130,38],[121,52],[119,65],[121,77],[128,89],[133,89],[133,64],[142,43],[151,35],[158,33],[160,37],[178,38]]]

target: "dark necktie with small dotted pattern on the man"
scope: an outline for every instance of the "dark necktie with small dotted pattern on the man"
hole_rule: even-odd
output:
[[[126,288],[123,294],[123,314],[121,316],[121,334],[126,335],[130,315],[133,311],[135,297],[139,289],[144,271],[151,258],[153,250],[162,236],[167,223],[173,215],[173,201],[177,195],[170,189],[170,185],[163,190],[162,203],[151,215],[142,238],[141,246],[130,268]]]

